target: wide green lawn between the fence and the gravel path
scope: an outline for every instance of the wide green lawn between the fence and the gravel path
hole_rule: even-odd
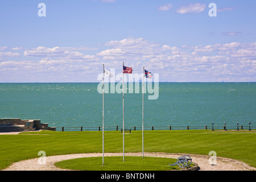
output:
[[[241,160],[256,167],[256,131],[154,130],[144,131],[145,152],[208,155]],[[0,169],[11,163],[47,156],[102,152],[101,131],[40,131],[0,135]],[[142,132],[125,134],[125,152],[142,151]],[[122,152],[120,131],[105,131],[105,152]]]

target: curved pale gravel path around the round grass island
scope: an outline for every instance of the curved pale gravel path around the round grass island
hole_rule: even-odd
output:
[[[104,156],[122,156],[123,153],[105,153]],[[195,154],[168,154],[158,152],[144,152],[144,156],[160,157],[160,158],[174,158],[179,156],[189,155],[192,158],[192,163],[196,163],[199,166],[199,171],[254,171],[256,168],[250,167],[239,160],[233,160],[228,158],[217,157],[216,164],[209,164],[209,158],[207,155],[195,155]],[[68,155],[56,155],[46,156],[44,164],[42,159],[34,158],[28,160],[22,160],[11,164],[11,166],[3,169],[2,171],[69,171],[68,169],[57,168],[54,164],[61,160],[75,159],[75,158],[90,158],[101,157],[102,153],[88,153],[88,154],[68,154]],[[129,152],[125,153],[125,156],[142,156],[141,152]]]

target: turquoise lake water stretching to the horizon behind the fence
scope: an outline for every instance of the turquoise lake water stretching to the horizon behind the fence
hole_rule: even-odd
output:
[[[153,84],[154,85],[154,84]],[[0,118],[41,119],[55,127],[102,126],[98,83],[0,84]],[[255,126],[256,83],[159,83],[144,94],[144,127]],[[128,88],[129,89],[129,88]],[[156,89],[156,88],[155,88]],[[105,93],[105,127],[122,127],[122,94]],[[125,94],[125,126],[141,127],[142,93]],[[151,128],[150,128],[151,129]]]

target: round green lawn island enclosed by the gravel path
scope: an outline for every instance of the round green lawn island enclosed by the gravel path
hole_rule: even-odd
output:
[[[177,159],[171,158],[125,156],[123,162],[123,156],[108,156],[104,157],[104,166],[102,157],[64,160],[57,162],[55,166],[82,171],[167,171],[180,169],[178,166],[169,166],[176,161]]]

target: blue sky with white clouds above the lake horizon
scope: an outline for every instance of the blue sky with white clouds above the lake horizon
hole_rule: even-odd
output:
[[[117,74],[123,61],[159,81],[255,82],[255,9],[253,0],[0,1],[0,82],[100,82],[102,64]]]

